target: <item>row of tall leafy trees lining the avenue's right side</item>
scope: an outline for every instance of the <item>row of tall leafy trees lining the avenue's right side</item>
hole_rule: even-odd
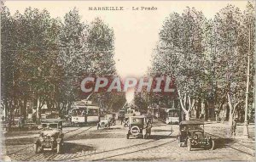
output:
[[[228,5],[207,20],[202,12],[186,8],[164,21],[148,74],[175,78],[183,120],[189,120],[191,111],[196,112],[196,118],[218,115],[230,122],[235,115],[244,115],[247,58],[249,54],[253,60],[255,49],[254,10],[253,3],[247,3],[243,12]],[[250,75],[254,75],[253,61],[249,66]],[[166,101],[166,96],[159,94],[143,98],[148,104]],[[248,105],[253,115],[253,77]]]

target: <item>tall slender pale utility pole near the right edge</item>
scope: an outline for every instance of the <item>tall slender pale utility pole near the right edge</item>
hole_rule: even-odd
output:
[[[249,96],[249,80],[250,80],[250,54],[251,54],[251,25],[249,25],[249,49],[248,49],[248,62],[247,62],[247,91],[246,91],[246,104],[244,113],[244,126],[243,126],[243,137],[248,138],[248,96]]]

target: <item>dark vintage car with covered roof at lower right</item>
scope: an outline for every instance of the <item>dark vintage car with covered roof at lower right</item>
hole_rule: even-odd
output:
[[[214,140],[204,132],[204,123],[201,120],[184,120],[179,124],[177,136],[178,145],[185,145],[190,151],[192,148],[214,148]]]

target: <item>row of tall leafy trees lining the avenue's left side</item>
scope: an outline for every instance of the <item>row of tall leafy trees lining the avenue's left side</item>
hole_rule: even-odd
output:
[[[44,104],[65,115],[73,101],[88,96],[81,95],[83,76],[117,75],[113,29],[99,18],[89,24],[82,22],[76,8],[61,20],[37,8],[11,15],[3,6],[1,35],[1,101],[6,115],[15,115],[20,109],[20,115],[26,116],[28,101],[36,103],[39,118]],[[90,99],[117,109],[125,95],[97,93]]]

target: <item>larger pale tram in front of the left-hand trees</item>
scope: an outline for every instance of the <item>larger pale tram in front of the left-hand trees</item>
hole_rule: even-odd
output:
[[[73,104],[71,110],[72,125],[85,126],[100,121],[100,108],[91,101],[82,100]]]

